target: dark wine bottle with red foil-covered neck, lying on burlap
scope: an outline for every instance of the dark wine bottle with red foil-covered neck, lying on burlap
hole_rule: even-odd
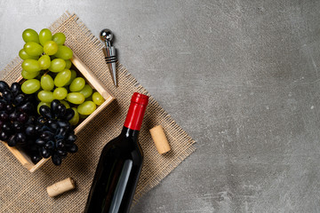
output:
[[[121,134],[102,149],[84,212],[129,212],[142,169],[138,137],[147,105],[148,96],[133,93]]]

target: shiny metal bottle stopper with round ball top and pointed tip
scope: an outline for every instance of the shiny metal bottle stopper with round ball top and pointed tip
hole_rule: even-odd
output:
[[[111,46],[111,40],[113,38],[113,33],[108,28],[102,29],[100,32],[100,39],[106,44],[106,48],[103,48],[105,54],[105,59],[110,70],[112,80],[116,83],[116,48]]]

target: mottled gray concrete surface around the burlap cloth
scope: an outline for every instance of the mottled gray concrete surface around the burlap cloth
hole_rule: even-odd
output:
[[[320,212],[320,1],[0,0],[0,69],[66,10],[197,141],[133,213]]]

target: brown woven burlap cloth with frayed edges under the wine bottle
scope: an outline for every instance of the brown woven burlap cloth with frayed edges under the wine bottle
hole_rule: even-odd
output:
[[[117,65],[119,87],[114,87],[101,51],[102,43],[75,14],[67,12],[55,21],[50,29],[52,32],[66,34],[68,46],[91,68],[116,100],[78,134],[76,143],[79,151],[69,154],[60,167],[54,166],[50,161],[35,173],[30,173],[4,145],[0,145],[0,212],[82,212],[101,149],[121,131],[132,93],[139,91],[148,94],[121,64]],[[21,59],[17,58],[4,68],[3,73],[7,74],[4,81],[12,83],[18,78],[20,64]],[[166,155],[157,154],[148,132],[156,124],[164,127],[172,146],[172,151]],[[134,203],[191,154],[195,150],[194,143],[195,141],[150,96],[140,131],[140,145],[145,154],[145,161]],[[67,177],[75,178],[76,190],[50,198],[46,193],[46,187]]]

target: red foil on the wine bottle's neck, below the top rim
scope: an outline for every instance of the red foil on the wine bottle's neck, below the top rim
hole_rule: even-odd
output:
[[[131,130],[140,130],[146,108],[146,105],[132,101],[125,118],[124,127]]]

